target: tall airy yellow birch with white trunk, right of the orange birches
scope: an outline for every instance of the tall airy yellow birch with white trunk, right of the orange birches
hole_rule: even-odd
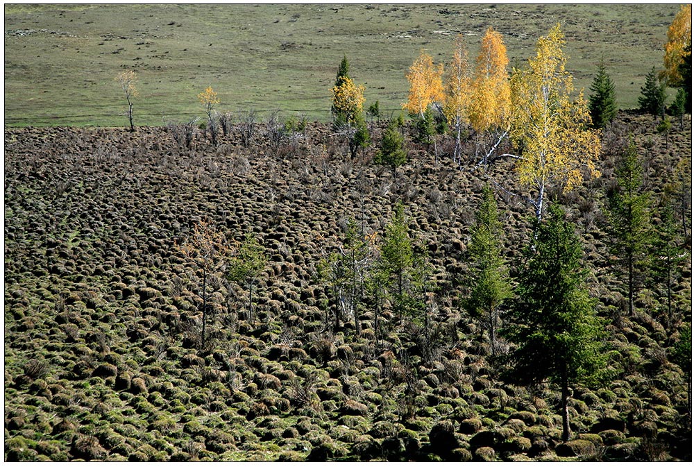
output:
[[[593,130],[588,105],[579,92],[572,99],[573,76],[566,71],[559,24],[540,37],[536,55],[511,75],[511,127],[518,181],[525,199],[542,218],[548,187],[564,192],[584,178],[599,176],[600,131]]]

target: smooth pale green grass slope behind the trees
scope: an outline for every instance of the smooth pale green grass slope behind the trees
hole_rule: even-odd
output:
[[[679,5],[6,5],[5,124],[126,126],[119,71],[139,76],[135,125],[203,117],[211,85],[221,112],[280,109],[330,117],[343,55],[366,86],[366,106],[399,112],[405,72],[426,49],[448,62],[457,33],[471,58],[488,26],[512,65],[561,23],[568,70],[591,85],[600,57],[618,104],[634,108],[645,75],[660,68]]]

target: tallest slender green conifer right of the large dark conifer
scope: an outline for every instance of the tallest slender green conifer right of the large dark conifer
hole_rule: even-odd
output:
[[[643,169],[636,144],[630,142],[616,169],[617,185],[607,193],[607,220],[612,253],[627,282],[629,315],[634,312],[637,278],[650,246],[650,194],[642,188]]]

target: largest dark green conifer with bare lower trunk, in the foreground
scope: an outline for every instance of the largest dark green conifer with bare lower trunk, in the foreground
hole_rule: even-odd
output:
[[[505,335],[517,347],[507,375],[521,384],[549,381],[561,388],[562,439],[570,438],[569,387],[591,384],[604,368],[604,324],[589,297],[582,247],[560,207],[536,226],[535,248],[519,275]]]

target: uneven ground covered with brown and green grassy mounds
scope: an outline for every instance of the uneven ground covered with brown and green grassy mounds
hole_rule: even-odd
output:
[[[279,145],[263,133],[249,147],[236,131],[217,147],[198,133],[188,149],[163,128],[6,128],[6,460],[691,459],[687,379],[670,362],[691,322],[691,262],[679,266],[673,316],[648,280],[625,313],[602,213],[628,133],[648,189],[662,192],[683,158],[691,179],[691,121],[666,141],[650,117],[621,115],[602,177],[555,194],[584,242],[615,352],[611,380],[573,388],[568,443],[558,388],[502,380],[463,308],[483,174],[434,164],[409,137],[393,180],[371,162],[375,148],[351,160],[328,126]],[[493,177],[511,183],[510,170]],[[497,198],[515,277],[531,211]],[[358,332],[336,327],[319,264],[349,219],[378,243],[398,201],[432,262],[432,320],[401,323],[388,304],[375,316],[366,300]],[[210,277],[199,348],[201,279],[178,246],[203,220],[230,244],[253,232],[268,264],[253,320],[246,291],[223,271]]]

